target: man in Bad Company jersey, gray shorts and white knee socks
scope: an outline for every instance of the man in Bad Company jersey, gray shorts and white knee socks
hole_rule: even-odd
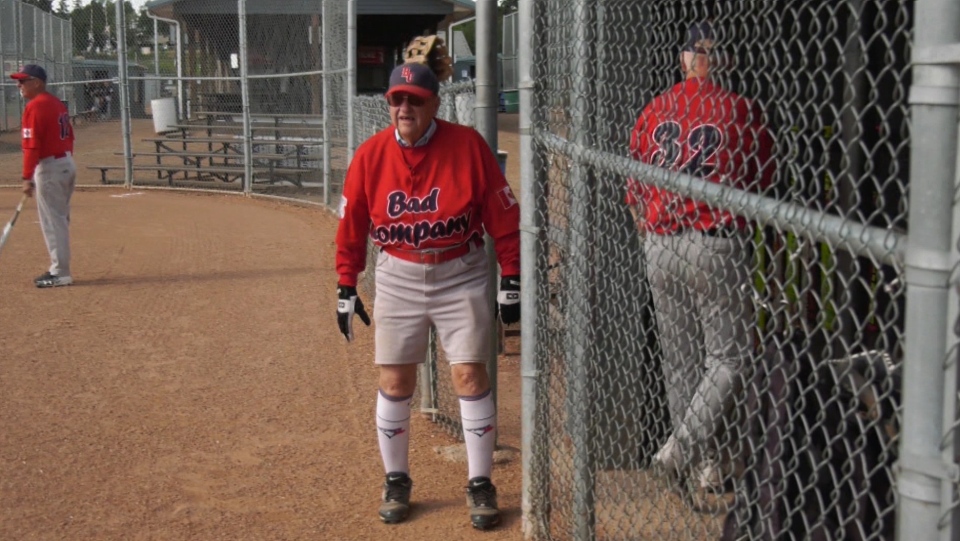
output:
[[[409,513],[410,400],[433,325],[460,397],[471,523],[487,529],[500,513],[490,481],[496,407],[485,362],[495,315],[483,234],[493,239],[500,263],[500,317],[514,323],[520,319],[520,208],[480,134],[436,118],[438,92],[426,66],[394,69],[386,95],[393,125],[363,143],[350,164],[337,230],[337,315],[347,341],[354,313],[369,325],[356,284],[370,240],[380,247],[373,314],[376,422],[386,470],[380,518],[396,523]]]

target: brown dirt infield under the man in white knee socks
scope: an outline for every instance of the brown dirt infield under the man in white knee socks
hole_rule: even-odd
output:
[[[78,128],[81,183],[98,175],[83,165],[122,150],[118,131]],[[18,183],[16,136],[0,136],[0,184]],[[0,188],[0,222],[18,198]],[[473,531],[466,465],[437,452],[456,442],[419,416],[413,515],[377,520],[373,333],[348,346],[337,332],[332,214],[79,190],[76,284],[39,290],[47,258],[30,204],[0,254],[0,539],[521,537],[519,457],[495,466],[503,525]],[[501,357],[508,448],[520,445],[518,363]]]

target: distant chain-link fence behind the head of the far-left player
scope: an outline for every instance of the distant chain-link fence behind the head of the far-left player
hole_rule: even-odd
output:
[[[18,0],[0,0],[0,67],[4,74],[24,64],[39,64],[47,71],[49,90],[69,106],[73,89],[62,83],[73,79],[72,47],[69,20]],[[0,81],[0,131],[20,125],[24,106],[17,85],[4,79]]]

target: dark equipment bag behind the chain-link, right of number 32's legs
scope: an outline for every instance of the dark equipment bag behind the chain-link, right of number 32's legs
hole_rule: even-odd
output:
[[[776,337],[747,389],[744,473],[721,539],[893,539],[899,365]]]

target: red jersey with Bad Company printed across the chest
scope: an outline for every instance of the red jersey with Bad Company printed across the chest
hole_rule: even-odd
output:
[[[486,231],[504,276],[520,274],[520,206],[476,130],[437,119],[423,146],[385,129],[357,149],[337,229],[340,285],[356,286],[367,239],[403,250],[450,248]]]

